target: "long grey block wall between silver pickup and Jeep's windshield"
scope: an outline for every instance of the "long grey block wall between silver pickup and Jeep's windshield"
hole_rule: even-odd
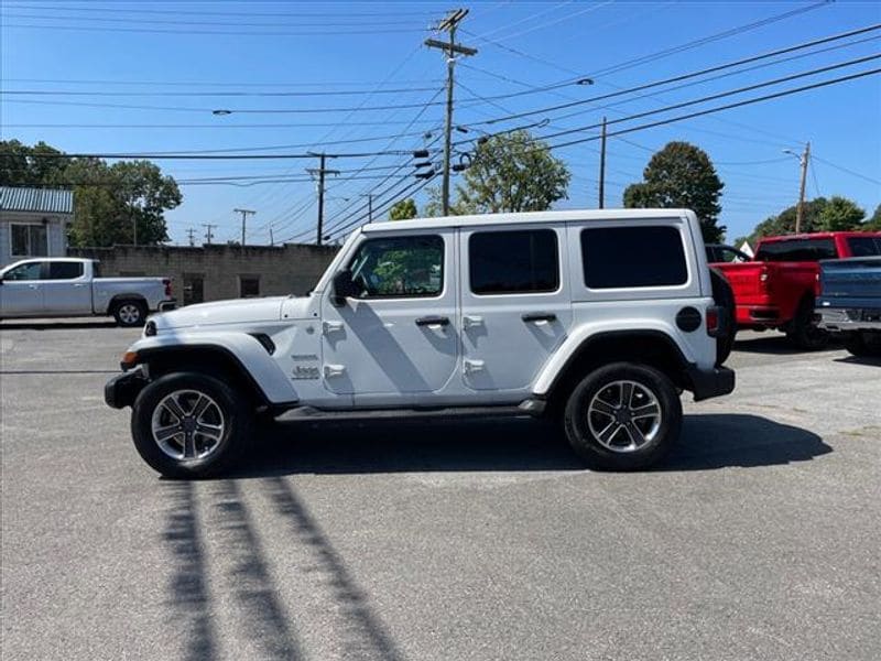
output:
[[[203,300],[238,299],[241,282],[259,295],[305,294],[315,286],[337,247],[285,245],[269,246],[116,246],[113,248],[70,248],[70,257],[97,259],[101,274],[171,275],[180,304],[192,297],[200,281]],[[186,289],[186,294],[185,290]]]

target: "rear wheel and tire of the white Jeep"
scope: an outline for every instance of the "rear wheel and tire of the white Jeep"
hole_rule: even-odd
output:
[[[629,405],[622,408],[628,388]],[[654,409],[650,410],[651,405]],[[621,424],[629,419],[626,410],[644,413],[630,419],[635,431]],[[640,470],[661,460],[678,440],[682,402],[664,373],[645,365],[613,362],[590,372],[575,387],[563,418],[569,444],[589,467]]]

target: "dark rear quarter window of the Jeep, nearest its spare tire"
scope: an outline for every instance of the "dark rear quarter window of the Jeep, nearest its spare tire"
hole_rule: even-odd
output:
[[[682,235],[668,226],[586,228],[581,264],[585,284],[594,290],[688,282]]]

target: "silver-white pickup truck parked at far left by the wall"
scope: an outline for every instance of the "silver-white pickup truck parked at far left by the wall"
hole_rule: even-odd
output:
[[[0,318],[111,315],[139,326],[175,307],[168,278],[100,278],[90,259],[26,259],[0,270]]]

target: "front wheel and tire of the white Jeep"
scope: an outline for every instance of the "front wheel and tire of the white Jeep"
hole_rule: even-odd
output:
[[[198,372],[175,372],[140,392],[131,434],[138,454],[165,477],[210,477],[241,456],[251,420],[247,399],[226,383]]]

